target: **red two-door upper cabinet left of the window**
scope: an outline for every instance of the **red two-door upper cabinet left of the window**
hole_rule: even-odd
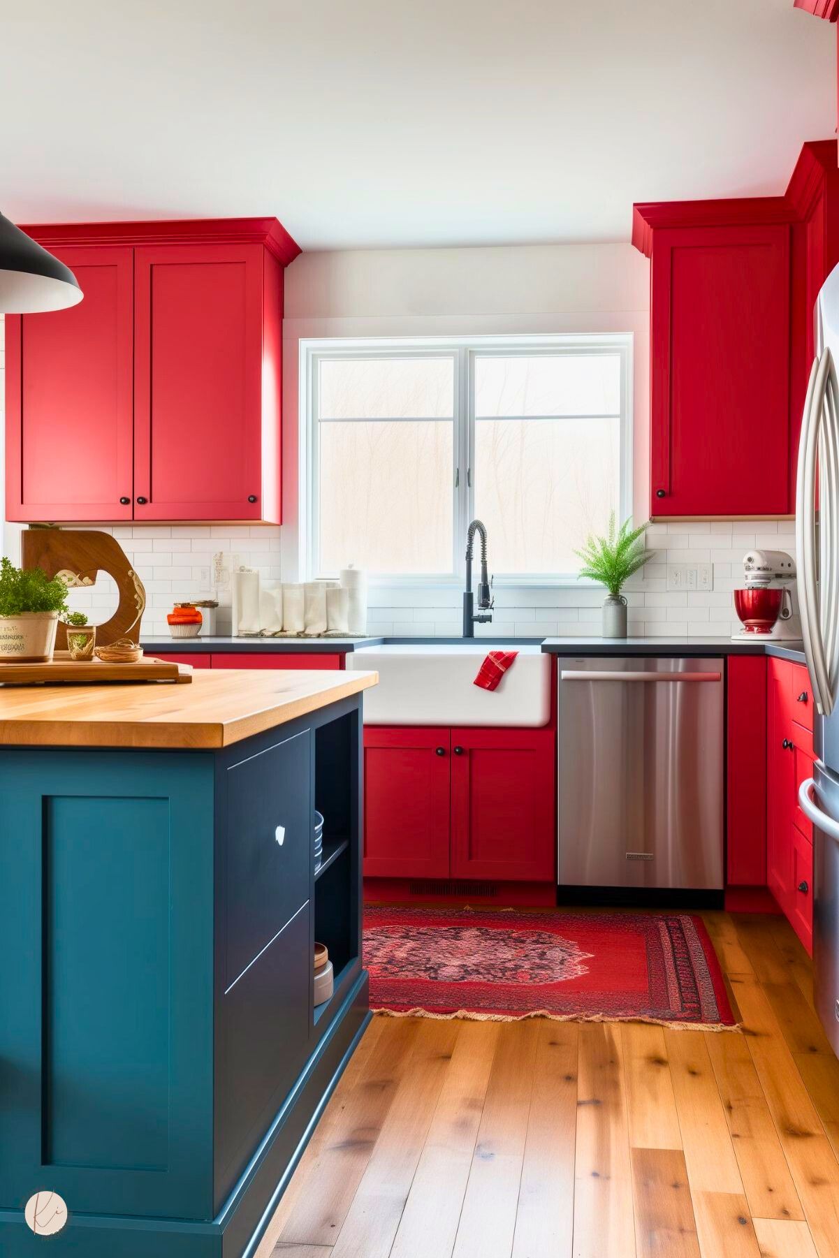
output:
[[[84,299],[8,321],[9,517],[279,523],[279,223],[28,230]]]

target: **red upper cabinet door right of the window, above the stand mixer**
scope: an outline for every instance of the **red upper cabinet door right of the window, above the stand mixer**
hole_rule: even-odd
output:
[[[790,479],[790,228],[653,234],[652,515],[775,516]]]

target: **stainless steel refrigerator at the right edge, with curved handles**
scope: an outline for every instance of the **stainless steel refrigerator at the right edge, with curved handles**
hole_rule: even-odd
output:
[[[813,961],[819,1018],[839,1054],[839,267],[819,293],[816,357],[799,445],[795,503],[801,637],[815,703]]]

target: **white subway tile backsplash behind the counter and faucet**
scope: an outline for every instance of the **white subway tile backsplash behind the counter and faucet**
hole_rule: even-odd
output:
[[[243,564],[281,579],[282,530],[234,525],[114,525],[111,530],[135,565],[148,595],[143,618],[147,635],[167,634],[166,613],[175,599],[210,593],[215,555],[228,566]],[[718,637],[740,628],[731,591],[742,584],[741,560],[752,546],[795,552],[789,521],[699,521],[650,526],[649,561],[626,585],[629,630],[634,637]],[[491,552],[492,557],[492,552]],[[669,591],[667,565],[713,564],[709,591]],[[230,632],[230,590],[218,596],[221,633]],[[494,591],[494,619],[475,625],[478,638],[597,637],[604,591],[581,581],[576,586],[501,585]],[[72,591],[70,605],[92,609],[104,620],[116,606],[113,582],[101,577],[92,590]],[[459,585],[371,585],[367,630],[374,637],[460,635]]]

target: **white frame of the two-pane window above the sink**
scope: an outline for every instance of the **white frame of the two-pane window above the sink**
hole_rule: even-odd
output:
[[[397,587],[462,586],[465,577],[465,537],[474,518],[475,359],[488,355],[618,353],[620,357],[619,419],[619,518],[633,509],[633,333],[556,333],[542,336],[470,336],[470,337],[330,337],[299,341],[299,561],[304,580],[335,576],[316,570],[318,554],[318,420],[317,381],[322,359],[369,357],[452,357],[454,360],[454,440],[452,465],[453,555],[452,572],[371,575],[372,585]],[[518,418],[518,416],[509,416]],[[538,419],[525,415],[522,419]],[[550,416],[553,418],[553,416]],[[564,419],[597,416],[561,416]],[[492,569],[492,536],[489,537]],[[496,572],[496,586],[571,586],[591,585],[576,572]]]

